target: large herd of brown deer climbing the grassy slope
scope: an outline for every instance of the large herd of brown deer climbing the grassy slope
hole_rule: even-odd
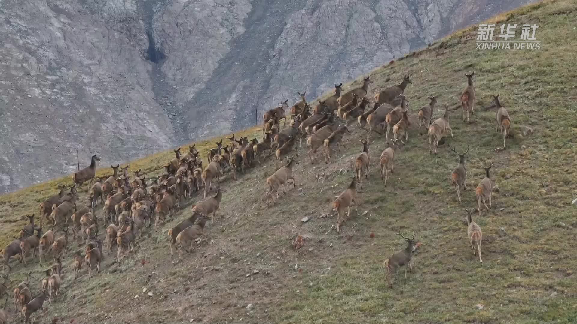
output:
[[[460,104],[463,121],[469,123],[470,114],[474,113],[474,73],[465,76],[467,86],[460,95]],[[131,176],[129,165],[121,167],[120,164],[110,166],[113,174],[99,177],[95,175],[96,163],[100,158],[93,155],[91,164],[72,176],[73,185],[68,188],[59,186],[57,194],[39,205],[40,224],[35,223],[35,214],[27,216],[29,223],[20,231],[18,238],[2,250],[2,273],[5,268],[12,268],[9,264],[12,257],[19,256],[18,260],[26,264],[36,257],[38,251],[38,262],[41,266],[43,261],[46,262],[47,255],[54,259],[54,265],[42,271],[46,276],[42,278],[42,288],[38,296],[32,298],[32,272],[28,273],[26,281],[14,289],[16,311],[28,322],[32,314],[36,315],[36,311],[42,310],[45,299],[51,303],[52,299],[58,296],[62,282],[61,259],[67,257],[73,243],[85,244],[83,249],[72,253],[74,279],[81,275],[83,268],[87,269],[88,276],[92,277],[94,269],[100,272],[100,263],[105,254],[116,250],[117,262],[122,262],[122,259],[133,251],[137,238],[141,238],[143,232],[167,223],[177,210],[185,208],[186,199],[203,190],[204,200],[192,206],[192,216],[181,220],[168,231],[170,254],[173,255],[176,248],[179,258],[182,258],[183,251],[192,252],[194,248],[201,246],[203,241],[207,241],[205,223],[216,220],[222,195],[226,193],[226,189],[220,187],[220,178],[225,171],[230,171],[231,178],[237,180],[238,174],[245,173],[246,168],[260,164],[265,157],[274,155],[277,171],[266,179],[263,201],[267,206],[271,202],[275,205],[275,195],[281,186],[283,193],[286,193],[286,184],[291,183],[295,187],[293,167],[298,163],[295,160],[295,157],[298,157],[297,148],[302,148],[303,142],[305,143],[311,164],[317,161],[317,150],[323,148],[325,163],[331,163],[331,153],[335,149],[340,152],[341,146],[344,147],[344,135],[350,133],[351,122],[357,120],[358,127],[367,131],[367,137],[361,141],[362,151],[354,160],[355,175],[350,185],[331,204],[336,213],[334,228],[340,233],[350,215],[351,207],[357,209],[357,186],[363,189],[364,182],[369,180],[369,146],[374,133],[384,135],[384,141],[388,144],[379,159],[384,186],[387,186],[389,174],[394,172],[396,153],[409,139],[409,100],[404,95],[404,90],[412,83],[411,76],[406,75],[399,85],[378,92],[373,97],[374,106],[368,108],[370,100],[366,95],[372,82],[368,76],[363,79],[361,87],[347,92],[343,92],[342,84],[335,85],[334,95],[319,101],[314,107],[307,103],[306,92],[298,93],[300,100],[290,109],[288,100],[282,101],[279,107],[265,112],[263,139],[260,142],[256,138],[249,141],[248,137],[236,138],[233,135],[228,138],[230,143],[223,146],[223,140],[220,140],[216,142],[215,148],[208,150],[205,160],[207,165],[204,167],[204,160],[200,158],[196,145],[190,145],[189,152],[185,155],[181,153],[181,148],[175,149],[174,159],[162,166],[164,172],[158,177],[147,179],[146,175],[141,174],[141,169],[133,171],[134,176]],[[444,114],[433,120],[437,96],[430,96],[428,99],[430,103],[418,110],[418,126],[421,134],[423,128],[427,130],[429,153],[436,154],[439,142],[449,134],[453,137],[449,126],[451,108],[445,103]],[[501,105],[499,95],[493,96],[493,105],[497,108],[497,131],[503,135],[504,149],[509,137],[511,118]],[[287,118],[286,110],[290,110],[290,118]],[[280,125],[280,120],[283,120],[283,126]],[[451,184],[455,187],[458,201],[461,202],[467,189],[465,159],[469,148],[463,153],[457,152],[456,148],[451,150],[459,157],[459,164],[451,174]],[[280,168],[279,163],[283,163]],[[475,189],[479,216],[482,211],[481,204],[487,211],[492,208],[490,168],[485,168],[485,178]],[[80,198],[78,190],[87,182],[87,195]],[[211,194],[208,195],[209,193]],[[102,216],[96,216],[99,205],[102,206]],[[467,236],[473,253],[478,255],[482,262],[481,228],[473,221],[471,211],[467,209],[466,212],[469,225]],[[45,227],[50,227],[50,230],[44,232]],[[387,281],[391,287],[392,275],[396,270],[406,266],[405,278],[406,268],[412,270],[415,233],[410,238],[400,231],[398,235],[406,240],[407,247],[384,261]],[[8,293],[10,284],[8,274],[3,274],[2,277],[4,282],[0,285],[0,298]],[[8,304],[5,305],[5,308],[7,307]],[[0,324],[6,322],[6,309],[0,310]]]

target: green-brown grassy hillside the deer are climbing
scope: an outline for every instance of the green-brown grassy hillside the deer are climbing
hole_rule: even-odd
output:
[[[571,81],[577,68],[569,53],[577,46],[576,10],[571,1],[545,2],[496,18],[518,25],[537,23],[539,51],[475,51],[471,28],[372,73],[372,89],[396,84],[402,74],[414,73],[414,83],[406,90],[414,119],[426,96],[438,95],[440,107],[445,102],[455,105],[466,85],[462,72],[475,71],[477,112],[471,125],[460,120],[460,111],[449,117],[455,134],[449,144],[471,146],[470,187],[482,178],[482,165],[489,161],[494,165],[492,178],[499,192],[493,195],[493,210],[475,216],[484,233],[484,264],[471,253],[463,223],[463,209],[476,205],[473,190],[466,191],[459,204],[448,181],[458,159],[443,146],[439,155],[428,155],[426,138],[419,137],[416,124],[409,144],[397,155],[388,187],[380,182],[377,167],[385,147],[382,138],[370,147],[369,180],[358,194],[359,213],[370,213],[362,217],[353,211],[340,235],[331,231],[335,217],[317,218],[328,212],[332,197],[349,182],[352,171],[347,167],[360,150],[357,139],[365,136],[364,131],[354,130],[340,159],[329,165],[311,167],[304,150],[299,151],[294,173],[301,195],[292,189],[275,207],[264,207],[262,187],[265,176],[274,171],[271,161],[238,182],[225,179],[223,218],[208,224],[213,244],[197,248],[181,262],[170,258],[166,232],[175,220],[138,242],[136,255],[121,265],[113,262],[112,255],[107,257],[103,271],[92,280],[84,275],[74,282],[67,272],[62,295],[48,307],[48,314],[66,314],[66,322],[76,318],[91,323],[190,319],[206,323],[241,319],[243,323],[574,323],[577,289],[572,271],[577,244],[572,227],[577,222],[570,202],[577,194],[571,181],[577,129],[571,105],[577,92]],[[387,78],[392,81],[385,82]],[[507,150],[494,153],[501,138],[494,130],[494,111],[484,106],[491,94],[499,92],[511,114],[515,139],[508,142]],[[534,133],[523,136],[527,127]],[[152,170],[170,158],[170,152],[161,153],[131,167]],[[339,174],[343,167],[345,172]],[[319,174],[326,176],[317,180]],[[36,211],[54,186],[55,182],[41,184],[0,197],[3,244],[24,223],[13,220]],[[189,214],[185,208],[177,218]],[[306,215],[312,220],[302,224],[300,219]],[[417,231],[423,245],[406,284],[398,274],[395,288],[388,289],[382,263],[403,248],[395,235],[399,228]],[[373,239],[370,233],[375,233]],[[311,239],[293,251],[290,242],[297,234]],[[302,271],[294,270],[295,263]],[[247,277],[254,269],[260,273]],[[27,270],[17,265],[16,278]],[[41,277],[36,274],[35,281]],[[144,286],[153,297],[145,296]],[[136,294],[140,296],[134,299]],[[247,310],[249,303],[253,308]],[[477,309],[479,303],[484,304],[483,310]]]

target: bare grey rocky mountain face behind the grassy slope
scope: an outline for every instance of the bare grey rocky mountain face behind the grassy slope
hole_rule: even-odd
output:
[[[0,0],[0,192],[252,126],[531,0]]]

